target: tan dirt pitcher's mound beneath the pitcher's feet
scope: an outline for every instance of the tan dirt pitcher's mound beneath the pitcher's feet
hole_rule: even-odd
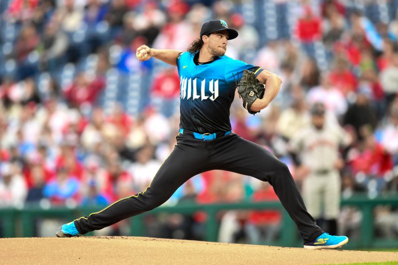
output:
[[[145,237],[0,239],[2,264],[398,264],[398,252],[305,250]]]

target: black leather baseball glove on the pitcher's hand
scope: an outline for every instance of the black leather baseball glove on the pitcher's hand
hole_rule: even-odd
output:
[[[260,111],[251,111],[254,100],[263,98],[265,92],[264,84],[262,84],[254,76],[254,72],[244,70],[242,78],[238,83],[239,97],[243,99],[243,107],[250,113],[256,114]]]

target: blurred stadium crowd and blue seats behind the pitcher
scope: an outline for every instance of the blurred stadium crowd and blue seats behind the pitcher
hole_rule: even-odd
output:
[[[289,139],[310,122],[309,106],[322,101],[328,122],[353,139],[343,196],[396,193],[397,11],[398,0],[2,0],[0,206],[106,205],[144,190],[175,145],[180,80],[159,61],[139,63],[135,49],[185,51],[211,18],[239,32],[228,56],[284,81],[255,116],[235,100],[234,132],[269,148],[295,176]],[[192,178],[167,203],[275,199],[267,183],[215,171]],[[396,214],[380,212],[389,220]],[[229,215],[229,226],[244,219],[273,227],[281,218]],[[358,215],[342,211],[347,229]],[[228,224],[221,241],[237,235],[222,232]],[[256,242],[252,229],[245,231]]]

